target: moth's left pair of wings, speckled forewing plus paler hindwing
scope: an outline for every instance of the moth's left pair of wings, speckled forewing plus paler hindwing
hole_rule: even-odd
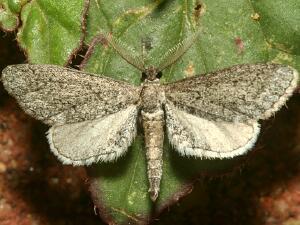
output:
[[[51,150],[65,164],[115,160],[136,135],[140,87],[54,65],[8,66],[2,81],[25,112],[52,126]]]

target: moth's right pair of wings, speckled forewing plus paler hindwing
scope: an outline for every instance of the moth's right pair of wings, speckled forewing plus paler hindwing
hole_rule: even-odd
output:
[[[285,104],[297,80],[291,67],[249,64],[166,84],[169,141],[186,156],[241,155],[257,139],[258,120]]]

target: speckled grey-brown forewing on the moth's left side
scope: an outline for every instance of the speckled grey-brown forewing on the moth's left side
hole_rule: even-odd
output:
[[[101,118],[137,105],[141,87],[55,65],[19,64],[2,72],[23,110],[52,126]]]

